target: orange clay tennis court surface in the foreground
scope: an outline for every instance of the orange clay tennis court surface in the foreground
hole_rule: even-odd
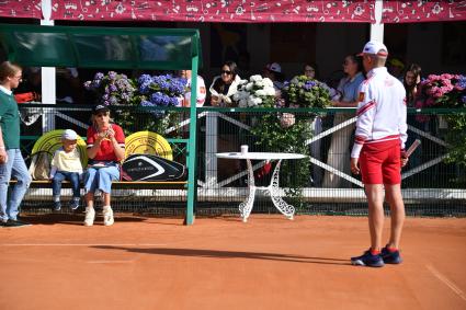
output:
[[[408,218],[383,268],[349,264],[364,217],[23,219],[0,229],[0,309],[466,309],[464,218]]]

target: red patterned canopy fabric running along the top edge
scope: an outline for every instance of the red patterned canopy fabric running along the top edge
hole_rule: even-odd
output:
[[[3,0],[0,16],[43,19],[42,0]],[[382,23],[466,20],[466,1],[384,1]],[[374,23],[375,0],[52,0],[52,20]]]

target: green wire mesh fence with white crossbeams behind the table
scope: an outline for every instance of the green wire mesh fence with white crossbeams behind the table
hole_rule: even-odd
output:
[[[170,110],[166,112],[170,114],[169,124],[159,126],[154,123],[155,117],[160,115],[156,112],[160,113],[160,110],[130,111],[133,123],[126,122],[125,130],[135,133],[154,126],[154,131],[167,137],[178,149],[174,159],[184,163],[187,150],[183,142],[189,133],[190,123],[187,114],[182,108]],[[38,138],[44,130],[52,129],[49,127],[52,125],[55,128],[73,128],[79,135],[86,137],[90,107],[21,105],[21,113],[24,120],[22,146],[24,154],[27,156],[34,137]],[[455,113],[457,113],[455,110],[442,111],[441,114],[432,111],[428,113],[409,111],[408,145],[417,138],[421,140],[421,147],[414,151],[409,164],[402,170],[402,192],[408,214],[431,216],[464,216],[466,214],[465,168],[444,162],[448,148],[445,141],[448,129],[444,116],[455,115]],[[270,147],[261,142],[260,137],[254,134],[257,133],[254,128],[266,119],[266,115],[273,115],[276,118],[292,115],[296,122],[307,124],[311,135],[298,137],[299,141],[303,141],[300,146],[283,143],[281,149],[277,149],[277,146]],[[122,122],[122,119],[117,120]],[[217,160],[215,154],[239,151],[241,145],[249,145],[250,151],[293,151],[308,154],[306,160],[284,161],[281,174],[283,194],[294,203],[298,214],[366,214],[361,180],[349,172],[355,122],[354,110],[279,111],[203,107],[197,108],[197,119],[196,213],[198,215],[239,213],[238,204],[245,200],[248,194],[246,163],[239,160]],[[283,130],[282,135],[286,135],[286,130]],[[270,181],[271,173],[268,174],[264,169],[266,164],[264,161],[253,162],[259,183]],[[299,182],[296,179],[299,179]],[[117,210],[169,215],[184,211],[186,191],[145,191],[138,192],[137,195],[128,195],[128,192],[120,193],[115,190],[114,207]],[[30,208],[38,206],[42,208],[44,204],[39,200],[48,200],[46,193],[31,194],[26,197],[26,202],[31,202],[27,206]],[[275,213],[275,208],[266,196],[266,192],[259,195],[253,211]],[[148,202],[150,202],[149,205]]]

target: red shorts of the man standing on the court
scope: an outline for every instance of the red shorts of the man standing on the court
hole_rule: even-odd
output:
[[[364,184],[400,184],[401,152],[399,139],[364,143],[359,163]]]

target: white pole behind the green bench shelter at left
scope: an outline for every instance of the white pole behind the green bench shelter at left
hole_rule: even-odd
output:
[[[42,0],[41,3],[42,14],[41,25],[53,26],[54,21],[52,16],[52,0]],[[55,104],[56,103],[56,82],[55,82],[55,67],[42,67],[42,103]],[[55,116],[43,115],[42,129],[44,133],[55,129]]]

